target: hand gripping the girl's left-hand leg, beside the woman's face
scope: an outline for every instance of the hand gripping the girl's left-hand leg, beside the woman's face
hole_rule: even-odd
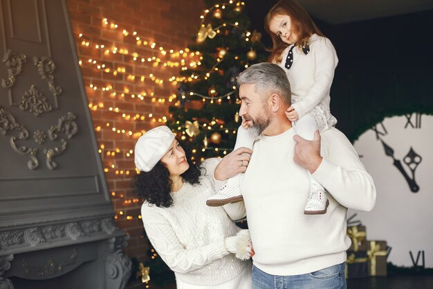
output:
[[[246,155],[248,154],[248,155]],[[214,177],[219,181],[225,181],[234,177],[238,173],[245,173],[248,164],[250,163],[250,155],[252,150],[249,148],[238,148],[230,154],[223,157],[215,168]]]

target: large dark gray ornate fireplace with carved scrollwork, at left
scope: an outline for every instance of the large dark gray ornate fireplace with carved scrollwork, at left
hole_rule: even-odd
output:
[[[125,288],[66,0],[0,0],[0,288]]]

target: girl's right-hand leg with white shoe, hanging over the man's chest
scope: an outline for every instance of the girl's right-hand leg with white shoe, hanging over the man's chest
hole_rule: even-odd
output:
[[[317,125],[313,117],[306,114],[293,123],[293,128],[300,137],[312,141]],[[322,146],[320,146],[320,155],[323,156]],[[311,173],[308,172],[308,176],[310,177],[310,195],[304,213],[307,215],[326,213],[329,202],[324,193],[324,187],[314,179]]]

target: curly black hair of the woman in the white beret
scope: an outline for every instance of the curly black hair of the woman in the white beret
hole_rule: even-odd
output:
[[[190,167],[181,175],[185,182],[190,184],[199,184],[201,170],[199,164],[194,164],[191,160],[190,149],[181,144],[185,150],[187,163]],[[155,204],[156,207],[170,207],[173,204],[173,198],[170,195],[172,191],[172,180],[169,179],[169,171],[161,161],[149,172],[140,172],[132,179],[132,189],[138,198],[142,198],[149,204]]]

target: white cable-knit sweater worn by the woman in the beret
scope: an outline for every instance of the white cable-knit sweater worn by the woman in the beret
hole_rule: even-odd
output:
[[[172,193],[172,207],[156,207],[147,202],[141,207],[151,244],[182,283],[223,284],[241,278],[241,272],[250,263],[236,259],[224,245],[224,239],[236,235],[239,227],[223,207],[206,205],[207,198],[214,193],[213,175],[218,162],[218,159],[204,161],[205,174],[200,184],[185,183],[180,191]]]

